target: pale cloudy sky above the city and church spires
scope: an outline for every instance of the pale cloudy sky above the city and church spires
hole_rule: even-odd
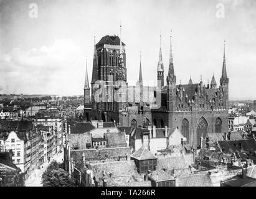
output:
[[[172,29],[177,83],[219,86],[225,40],[229,98],[256,99],[255,0],[0,0],[0,93],[83,95],[93,35],[120,35],[120,22],[130,85],[140,51],[143,83],[156,81],[160,32],[166,79]]]

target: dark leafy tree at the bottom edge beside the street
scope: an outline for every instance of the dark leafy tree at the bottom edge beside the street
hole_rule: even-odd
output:
[[[63,164],[52,162],[42,174],[43,187],[73,187],[73,178],[63,169]]]

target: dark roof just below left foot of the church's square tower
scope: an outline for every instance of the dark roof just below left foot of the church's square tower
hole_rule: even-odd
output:
[[[77,121],[67,121],[67,132],[69,133],[69,125],[70,125],[70,133],[71,134],[80,134],[84,132],[91,131],[95,129],[95,127],[91,123],[78,123]]]

